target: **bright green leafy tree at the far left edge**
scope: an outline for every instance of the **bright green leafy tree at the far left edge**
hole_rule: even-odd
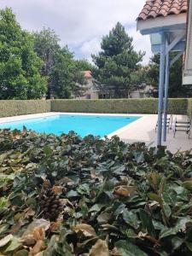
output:
[[[0,99],[44,96],[42,64],[33,50],[32,36],[21,29],[11,9],[0,9]]]

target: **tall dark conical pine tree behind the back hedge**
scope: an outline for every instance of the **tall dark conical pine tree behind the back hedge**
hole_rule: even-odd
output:
[[[125,27],[118,22],[112,31],[102,38],[102,51],[98,55],[92,55],[97,67],[93,76],[107,88],[113,88],[115,98],[122,96],[122,90],[129,96],[132,87],[131,74],[137,71],[139,62],[143,61],[144,53],[137,53],[133,49],[132,41],[125,32]]]

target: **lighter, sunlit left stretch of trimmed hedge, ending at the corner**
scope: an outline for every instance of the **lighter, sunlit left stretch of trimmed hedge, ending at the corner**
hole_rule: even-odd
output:
[[[50,112],[51,102],[45,100],[10,100],[0,101],[0,117],[21,115],[28,113]]]

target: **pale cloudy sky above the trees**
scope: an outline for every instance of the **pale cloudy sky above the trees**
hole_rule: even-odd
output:
[[[11,7],[20,25],[28,31],[54,29],[61,45],[68,45],[75,58],[91,60],[98,53],[102,36],[119,21],[133,38],[135,49],[151,56],[148,36],[137,32],[137,15],[146,0],[0,0],[0,8]]]

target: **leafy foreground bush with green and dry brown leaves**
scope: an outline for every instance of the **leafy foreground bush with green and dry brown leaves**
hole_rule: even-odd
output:
[[[0,131],[2,255],[192,254],[192,154]]]

